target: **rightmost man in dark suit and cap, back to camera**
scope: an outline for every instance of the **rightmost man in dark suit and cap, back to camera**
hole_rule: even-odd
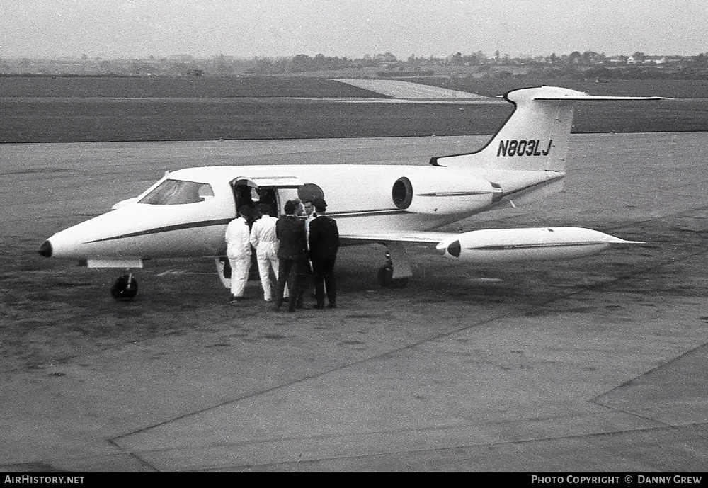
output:
[[[316,198],[312,204],[316,217],[309,226],[309,259],[312,262],[314,279],[314,297],[317,303],[313,308],[324,308],[324,290],[327,290],[329,308],[337,306],[337,285],[334,279],[334,261],[339,249],[339,229],[337,222],[329,215],[324,215],[327,203]]]

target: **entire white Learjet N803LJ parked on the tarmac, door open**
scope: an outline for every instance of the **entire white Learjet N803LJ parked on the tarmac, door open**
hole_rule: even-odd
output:
[[[79,259],[89,267],[127,269],[142,268],[144,259],[212,256],[228,288],[224,230],[236,208],[266,201],[280,212],[285,201],[306,195],[326,198],[343,244],[387,246],[379,283],[389,286],[405,285],[412,276],[404,247],[409,242],[435,244],[447,258],[469,263],[568,259],[611,244],[638,243],[580,227],[435,232],[511,199],[537,200],[559,190],[576,103],[661,99],[589,96],[552,86],[513,90],[503,98],[515,110],[476,152],[433,157],[430,166],[181,169],[112,211],[57,232],[39,252]],[[112,293],[117,299],[132,298],[137,293],[132,273],[118,278]]]

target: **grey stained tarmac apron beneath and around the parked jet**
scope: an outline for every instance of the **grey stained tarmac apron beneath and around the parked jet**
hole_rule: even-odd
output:
[[[38,256],[59,229],[207,164],[426,164],[479,137],[4,144],[0,471],[702,472],[704,133],[572,135],[565,190],[451,226],[644,240],[559,263],[338,259],[336,310],[230,305],[209,259],[115,270]],[[365,184],[365,178],[362,178]]]

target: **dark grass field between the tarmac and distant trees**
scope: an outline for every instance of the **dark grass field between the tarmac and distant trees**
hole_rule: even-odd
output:
[[[520,79],[470,81],[474,86],[451,83],[447,86],[483,95],[540,84]],[[593,94],[677,98],[658,103],[586,104],[578,109],[573,132],[702,131],[708,127],[708,99],[702,98],[708,84],[702,81],[556,84]],[[3,143],[486,135],[511,111],[510,105],[503,104],[295,100],[287,97],[379,95],[326,79],[275,77],[0,77],[0,93]]]

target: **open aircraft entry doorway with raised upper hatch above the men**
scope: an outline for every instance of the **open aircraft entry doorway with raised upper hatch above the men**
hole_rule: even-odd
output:
[[[236,208],[241,205],[258,205],[267,203],[270,206],[270,215],[278,217],[282,213],[282,206],[287,200],[297,198],[297,188],[302,186],[295,176],[257,176],[241,177],[231,182],[236,199]]]

